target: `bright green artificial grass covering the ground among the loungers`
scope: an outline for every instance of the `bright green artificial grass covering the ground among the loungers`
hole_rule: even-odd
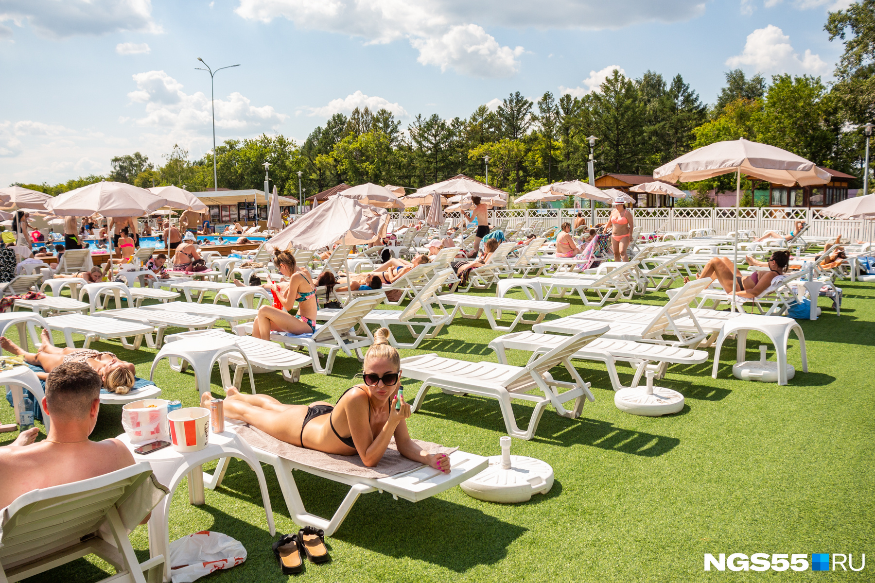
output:
[[[875,288],[842,281],[842,316],[824,309],[816,322],[802,321],[809,372],[801,371],[798,342],[790,341],[789,361],[796,378],[787,386],[740,381],[727,342],[717,379],[711,362],[671,366],[657,385],[686,397],[683,412],[646,418],[620,412],[601,364],[576,361],[591,382],[595,402],[577,420],[548,409],[535,438],[514,439],[513,453],[548,462],[556,482],[547,496],[529,503],[486,503],[458,488],[419,503],[388,494],[360,496],[346,522],[328,538],[332,562],[308,564],[302,577],[314,581],[733,581],[790,578],[872,580],[861,573],[811,571],[756,573],[704,572],[704,553],[853,553],[855,566],[872,551],[875,528],[873,488],[873,382]],[[491,293],[494,293],[493,291]],[[581,311],[578,299],[557,316]],[[662,303],[664,294],[635,302]],[[828,301],[821,299],[821,306]],[[528,330],[522,325],[517,330]],[[13,338],[15,332],[12,332]],[[495,361],[487,344],[500,332],[486,320],[463,320],[445,328],[422,350],[469,360]],[[758,357],[752,333],[748,358]],[[61,343],[61,338],[56,338]],[[137,364],[148,377],[154,350],[123,350],[117,343],[95,343]],[[770,347],[771,348],[771,347]],[[713,350],[711,350],[713,353]],[[774,351],[769,350],[774,359]],[[528,353],[508,350],[511,364],[525,364]],[[309,369],[307,369],[309,371]],[[563,371],[564,372],[564,371]],[[283,382],[279,373],[256,377],[258,392],[283,403],[334,401],[355,384],[360,363],[339,356],[330,376],[306,372],[300,382]],[[620,366],[624,383],[631,369]],[[214,372],[214,380],[219,375]],[[560,374],[561,378],[561,374]],[[166,399],[195,406],[198,393],[191,373],[160,364],[156,382]],[[246,391],[248,379],[244,378]],[[419,383],[405,383],[410,401]],[[218,385],[214,392],[223,394]],[[530,406],[514,402],[516,419],[526,427]],[[0,420],[13,421],[11,407]],[[432,390],[410,433],[479,455],[498,455],[504,435],[493,399],[453,397]],[[122,433],[120,407],[103,406],[93,439]],[[0,444],[17,434],[0,434]],[[44,436],[41,436],[41,438]],[[207,466],[207,470],[214,463]],[[273,469],[265,466],[277,532],[297,531],[283,502]],[[303,472],[295,479],[308,510],[330,517],[346,487]],[[183,484],[173,498],[170,538],[194,531],[221,531],[242,541],[248,559],[218,572],[219,581],[279,581],[284,577],[270,552],[274,538],[258,494],[255,474],[233,461],[220,488],[207,490],[207,503],[188,503]],[[131,534],[140,560],[148,557],[146,528]],[[872,560],[872,559],[871,559]],[[114,573],[88,557],[32,580],[95,581]]]

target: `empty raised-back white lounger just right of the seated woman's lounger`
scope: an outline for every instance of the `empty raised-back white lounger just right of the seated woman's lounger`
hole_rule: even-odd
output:
[[[452,275],[452,269],[435,275],[429,284],[417,293],[406,308],[399,309],[374,309],[361,318],[366,324],[377,324],[389,330],[388,342],[395,348],[417,348],[423,340],[436,337],[444,326],[452,323],[452,315],[446,311],[444,304],[440,302],[437,291]],[[431,309],[431,304],[437,303],[441,313],[436,314]],[[420,313],[422,312],[422,313]],[[406,326],[410,336],[414,338],[412,343],[400,343],[392,333],[391,326]],[[421,328],[416,332],[415,328]]]

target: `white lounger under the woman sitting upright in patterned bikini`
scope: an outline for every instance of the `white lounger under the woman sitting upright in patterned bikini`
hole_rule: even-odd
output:
[[[362,323],[361,318],[374,309],[374,306],[379,305],[383,297],[385,296],[379,294],[355,298],[352,302],[346,303],[346,306],[332,316],[328,322],[316,324],[316,331],[311,337],[290,337],[271,331],[270,339],[286,346],[303,346],[310,353],[313,371],[331,374],[334,358],[337,357],[340,350],[343,350],[347,357],[352,357],[354,353],[359,361],[364,360],[361,349],[374,344],[374,337],[370,330],[367,330],[367,325]],[[362,329],[362,334],[355,333],[356,326]],[[252,324],[235,326],[234,331],[239,336],[252,334]],[[328,349],[325,367],[319,365],[318,349],[320,348]]]

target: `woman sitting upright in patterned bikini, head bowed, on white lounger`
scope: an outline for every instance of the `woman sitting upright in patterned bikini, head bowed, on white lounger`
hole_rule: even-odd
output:
[[[270,339],[270,330],[291,332],[292,334],[309,334],[316,331],[316,292],[310,274],[297,268],[295,255],[290,249],[274,253],[274,265],[279,273],[289,278],[289,283],[283,287],[275,286],[273,292],[283,305],[283,309],[263,305],[258,309],[258,316],[252,325],[252,336]],[[297,314],[289,312],[297,302]]]

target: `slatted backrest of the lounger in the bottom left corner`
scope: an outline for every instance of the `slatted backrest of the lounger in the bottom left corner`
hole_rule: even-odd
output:
[[[141,462],[18,496],[0,517],[0,562],[8,568],[79,543],[94,534],[110,510],[127,500],[151,473],[149,464]]]

